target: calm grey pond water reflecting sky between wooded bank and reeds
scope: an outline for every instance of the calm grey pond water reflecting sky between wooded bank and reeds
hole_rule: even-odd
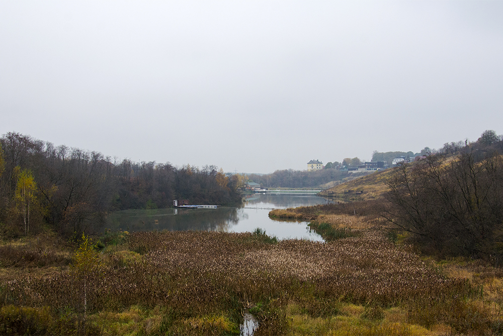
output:
[[[111,214],[106,228],[123,231],[204,230],[221,232],[251,232],[257,228],[279,239],[309,239],[323,241],[307,222],[274,221],[272,209],[296,208],[328,203],[309,193],[266,193],[246,198],[242,208],[218,209],[154,209],[126,210]]]

